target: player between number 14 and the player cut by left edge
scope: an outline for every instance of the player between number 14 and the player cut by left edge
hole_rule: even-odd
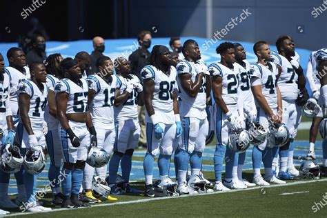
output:
[[[10,81],[10,108],[12,110],[12,119],[15,126],[18,124],[18,84],[22,79],[30,78],[30,69],[26,66],[26,56],[23,50],[20,48],[12,47],[7,52],[7,58],[9,66],[6,67],[6,71],[9,75]],[[14,128],[14,130],[16,129]],[[23,182],[23,171],[19,171],[14,174],[14,178],[17,181],[18,195],[15,199],[15,204],[21,205],[22,202],[26,202],[26,190]]]

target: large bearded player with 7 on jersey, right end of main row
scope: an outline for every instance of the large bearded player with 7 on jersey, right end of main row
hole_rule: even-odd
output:
[[[291,156],[293,159],[293,141],[297,133],[297,107],[296,102],[301,106],[306,103],[308,93],[306,91],[306,79],[304,77],[303,69],[299,62],[292,57],[295,56],[294,41],[289,36],[281,36],[276,41],[276,47],[279,54],[273,52],[271,55],[273,61],[281,66],[281,75],[278,79],[278,86],[281,92],[281,99],[283,105],[283,119],[282,122],[286,124],[290,132],[290,140],[285,146],[279,148],[280,167],[278,172],[279,179],[293,179],[294,176],[299,175],[299,171],[294,164],[288,168],[288,148],[290,147]],[[299,90],[302,99],[298,99]],[[278,147],[274,148],[274,162],[273,166],[277,168],[277,151]]]

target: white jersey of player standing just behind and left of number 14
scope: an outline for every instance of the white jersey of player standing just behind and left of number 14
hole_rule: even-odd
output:
[[[25,66],[24,69],[26,74],[23,74],[23,72],[20,72],[15,68],[6,67],[10,80],[10,107],[12,108],[12,115],[14,116],[17,115],[18,112],[17,91],[19,82],[23,79],[30,79],[30,68]]]

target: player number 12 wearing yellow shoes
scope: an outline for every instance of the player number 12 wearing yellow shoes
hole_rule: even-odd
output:
[[[100,71],[95,75],[88,76],[88,105],[92,123],[97,131],[97,146],[111,155],[116,137],[113,103],[118,81],[117,77],[113,75],[114,66],[110,57],[99,57],[95,65]],[[86,197],[100,201],[92,195],[92,179],[95,171],[101,179],[106,179],[107,168],[107,165],[93,168],[86,164],[83,186]],[[109,196],[108,200],[116,201],[117,198]]]

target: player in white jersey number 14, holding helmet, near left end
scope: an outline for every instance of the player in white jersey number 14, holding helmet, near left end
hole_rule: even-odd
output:
[[[19,83],[19,124],[17,135],[21,144],[21,153],[25,155],[29,148],[46,146],[43,132],[44,110],[47,103],[48,87],[46,86],[46,67],[41,62],[30,64],[31,79]],[[23,170],[23,179],[28,199],[29,212],[49,211],[51,208],[39,206],[35,199],[37,176]]]

